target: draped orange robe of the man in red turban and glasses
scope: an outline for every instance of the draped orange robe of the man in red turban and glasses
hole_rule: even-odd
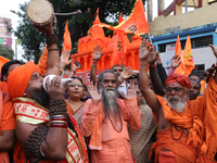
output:
[[[180,163],[187,162],[183,159],[188,159],[189,156],[190,162],[192,162],[192,160],[194,160],[193,162],[197,160],[201,163],[214,161],[213,156],[216,153],[217,147],[217,131],[215,129],[216,125],[214,125],[217,124],[217,85],[214,78],[210,78],[203,96],[197,97],[195,100],[188,101],[184,113],[179,113],[170,109],[167,101],[165,101],[162,97],[157,96],[157,99],[162,104],[165,118],[177,126],[187,128],[189,136],[186,138],[186,134],[183,133],[182,137],[184,140],[181,142],[178,142],[178,148],[176,148],[175,146],[170,146],[170,142],[174,141],[174,139],[169,136],[171,135],[171,131],[169,131],[171,129],[170,127],[166,128],[164,131],[157,131],[158,139],[153,145],[156,156],[155,162],[157,162],[157,155],[159,154],[162,148],[173,151],[176,162]],[[156,121],[156,115],[154,116]],[[176,135],[176,133],[174,134]],[[173,145],[176,143],[173,142]],[[189,150],[192,152],[197,150],[197,154],[193,155]]]

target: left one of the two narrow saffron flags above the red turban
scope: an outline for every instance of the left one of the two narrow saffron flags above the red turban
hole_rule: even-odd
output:
[[[186,67],[184,67],[184,62],[183,62],[183,55],[182,55],[182,50],[181,50],[181,42],[179,40],[179,35],[177,36],[177,41],[176,41],[176,50],[175,50],[175,55],[180,57],[180,65],[175,70],[174,73],[178,74],[184,74]]]

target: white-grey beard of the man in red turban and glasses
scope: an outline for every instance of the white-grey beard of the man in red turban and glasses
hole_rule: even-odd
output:
[[[168,102],[168,105],[170,108],[173,108],[174,110],[180,112],[180,113],[183,113],[184,112],[184,109],[187,106],[187,100],[188,100],[188,96],[184,95],[182,99],[180,99],[179,97],[177,96],[169,96],[168,99],[164,98],[167,102]],[[171,100],[173,99],[176,99],[178,100],[178,102],[174,103]]]

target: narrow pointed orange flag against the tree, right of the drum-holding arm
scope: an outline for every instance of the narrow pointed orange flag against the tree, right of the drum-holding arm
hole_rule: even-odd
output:
[[[62,49],[62,53],[66,50],[72,50],[72,41],[71,41],[71,33],[68,30],[68,20],[65,24],[65,33],[63,36],[63,49]]]

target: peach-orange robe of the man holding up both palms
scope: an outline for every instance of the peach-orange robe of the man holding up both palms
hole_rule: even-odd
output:
[[[136,97],[125,102],[118,99],[122,111],[123,130],[117,133],[108,118],[104,120],[102,103],[85,103],[80,128],[84,136],[90,137],[92,163],[132,163],[127,123],[133,129],[141,127],[141,112]],[[103,121],[104,120],[104,121]],[[117,123],[119,124],[119,123]],[[94,150],[93,150],[94,149]]]

